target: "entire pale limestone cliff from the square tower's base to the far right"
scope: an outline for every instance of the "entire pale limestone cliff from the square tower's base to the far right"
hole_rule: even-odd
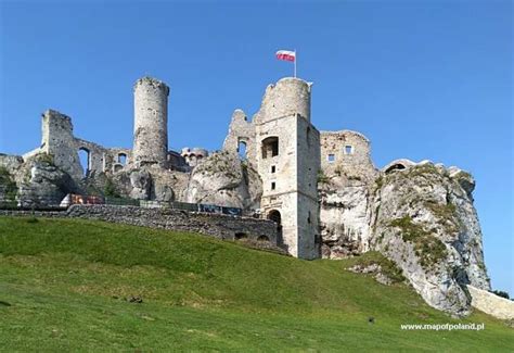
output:
[[[470,312],[466,285],[489,290],[472,176],[431,162],[387,167],[376,178],[326,177],[321,189],[322,254],[377,250],[432,306]]]

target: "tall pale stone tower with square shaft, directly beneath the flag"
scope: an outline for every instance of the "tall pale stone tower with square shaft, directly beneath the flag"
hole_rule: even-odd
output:
[[[268,86],[253,122],[261,211],[280,224],[287,251],[301,259],[319,256],[320,134],[310,123],[310,92],[299,78]]]

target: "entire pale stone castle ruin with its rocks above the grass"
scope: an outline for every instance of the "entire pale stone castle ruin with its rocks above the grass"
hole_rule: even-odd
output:
[[[59,205],[81,193],[138,201],[74,209],[95,219],[264,241],[307,260],[374,250],[395,262],[428,304],[468,314],[464,285],[490,289],[473,177],[429,161],[396,160],[377,169],[362,134],[314,127],[311,89],[296,77],[269,85],[252,119],[234,111],[222,150],[214,153],[169,150],[169,87],[155,78],[133,87],[131,149],[80,139],[70,117],[48,110],[39,148],[23,156],[0,153],[0,205]],[[143,211],[145,203],[193,209]],[[209,210],[228,213],[209,218]],[[412,229],[415,239],[404,236]]]

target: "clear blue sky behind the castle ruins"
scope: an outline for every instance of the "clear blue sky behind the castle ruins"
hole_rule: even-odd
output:
[[[473,173],[492,286],[514,295],[511,1],[0,2],[1,152],[36,148],[48,108],[131,147],[143,75],[171,87],[170,147],[219,149],[232,111],[292,74],[274,52],[296,48],[319,129],[363,133],[378,167]]]

